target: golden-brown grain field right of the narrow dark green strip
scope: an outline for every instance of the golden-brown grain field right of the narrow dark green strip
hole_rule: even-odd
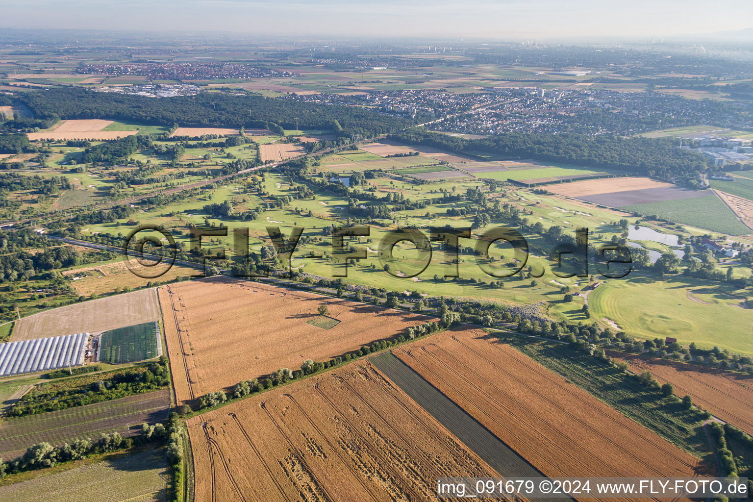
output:
[[[544,476],[697,476],[697,458],[483,330],[458,327],[392,354]]]

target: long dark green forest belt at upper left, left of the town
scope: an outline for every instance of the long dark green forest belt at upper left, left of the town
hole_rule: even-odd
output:
[[[195,97],[195,102],[194,102]],[[240,127],[294,129],[296,117],[302,129],[331,129],[338,135],[367,137],[393,132],[410,121],[366,108],[319,105],[264,98],[251,94],[200,93],[166,99],[133,94],[96,93],[66,88],[28,92],[20,100],[36,119],[110,119],[136,123],[196,127]]]

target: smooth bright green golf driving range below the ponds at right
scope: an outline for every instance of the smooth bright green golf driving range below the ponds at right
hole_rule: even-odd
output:
[[[753,354],[750,310],[740,307],[740,291],[679,276],[627,277],[605,281],[588,295],[596,319],[608,318],[633,336],[671,336],[682,344],[718,346]],[[724,319],[723,324],[720,320]]]

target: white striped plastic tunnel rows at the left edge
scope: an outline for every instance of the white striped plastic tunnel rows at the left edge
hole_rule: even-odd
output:
[[[89,333],[50,336],[0,345],[0,376],[55,370],[84,364]]]

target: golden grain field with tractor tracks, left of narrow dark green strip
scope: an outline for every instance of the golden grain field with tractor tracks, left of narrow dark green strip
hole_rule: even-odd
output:
[[[362,364],[189,419],[197,502],[418,502],[439,476],[497,476]]]

